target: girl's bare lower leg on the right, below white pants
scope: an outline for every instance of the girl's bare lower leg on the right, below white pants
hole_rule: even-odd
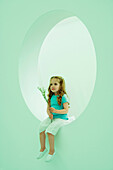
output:
[[[52,135],[51,133],[48,133],[48,138],[49,138],[49,146],[50,146],[50,149],[49,149],[49,154],[50,155],[53,155],[54,153],[54,135]]]

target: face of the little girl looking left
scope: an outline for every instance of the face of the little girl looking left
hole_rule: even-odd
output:
[[[53,79],[50,81],[50,90],[51,90],[53,93],[56,94],[59,89],[60,89],[59,80],[53,78]]]

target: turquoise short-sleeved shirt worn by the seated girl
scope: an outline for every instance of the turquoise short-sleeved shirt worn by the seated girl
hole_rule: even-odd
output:
[[[68,102],[68,98],[67,98],[67,95],[64,94],[62,96],[61,105],[59,105],[58,101],[57,101],[58,96],[59,95],[54,95],[54,94],[52,95],[52,97],[51,97],[51,107],[53,107],[53,108],[55,108],[57,110],[62,110],[62,109],[64,109],[63,103]],[[53,119],[54,118],[60,118],[60,119],[68,120],[67,114],[58,114],[58,113],[52,113],[52,114],[53,114]]]

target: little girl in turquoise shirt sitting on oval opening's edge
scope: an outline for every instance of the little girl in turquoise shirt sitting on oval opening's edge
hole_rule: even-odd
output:
[[[45,147],[45,133],[47,133],[50,150],[46,157],[46,162],[52,160],[55,155],[54,136],[68,120],[69,105],[65,91],[65,81],[62,77],[53,76],[50,78],[48,92],[47,114],[49,117],[42,121],[39,126],[41,149],[37,157],[40,159],[47,152]]]

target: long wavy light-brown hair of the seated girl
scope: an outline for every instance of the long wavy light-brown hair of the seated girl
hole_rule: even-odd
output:
[[[65,90],[65,81],[64,81],[64,78],[62,78],[61,76],[52,76],[52,77],[50,78],[50,82],[51,82],[51,80],[52,80],[53,78],[59,80],[59,83],[60,83],[60,89],[59,89],[59,91],[57,92],[57,94],[59,95],[59,97],[57,97],[57,101],[58,101],[58,104],[61,105],[62,96],[63,96],[64,94],[67,95],[66,90]],[[50,86],[51,86],[51,85],[49,85],[49,87],[48,87],[48,92],[49,92],[49,93],[47,94],[47,96],[48,96],[48,105],[49,105],[49,106],[51,106],[51,97],[52,97],[52,95],[54,94],[54,93],[50,90]],[[67,95],[67,97],[68,97],[68,95]],[[70,103],[68,102],[68,105],[69,105],[69,104],[70,104]],[[68,107],[70,107],[70,106],[68,106]]]

